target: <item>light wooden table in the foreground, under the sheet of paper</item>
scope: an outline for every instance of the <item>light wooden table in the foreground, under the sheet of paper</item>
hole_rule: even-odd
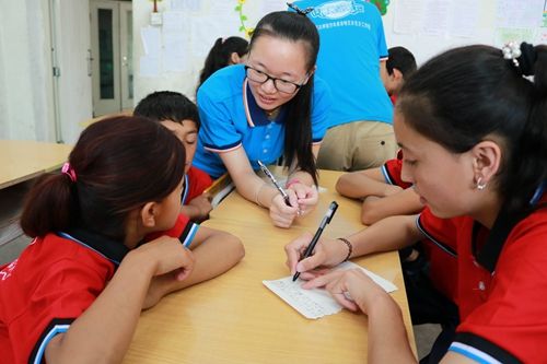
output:
[[[315,231],[328,204],[340,204],[325,236],[362,228],[359,203],[334,190],[338,173],[322,172],[321,202],[289,230],[275,227],[268,212],[231,193],[203,225],[238,236],[246,256],[209,282],[164,297],[141,315],[124,363],[363,363],[366,316],[342,310],[309,320],[263,285],[289,274],[283,246],[303,231]],[[354,262],[393,281],[414,343],[398,255],[387,253]],[[412,345],[414,347],[414,345]],[[394,348],[396,350],[396,348]],[[415,351],[416,352],[416,351]]]

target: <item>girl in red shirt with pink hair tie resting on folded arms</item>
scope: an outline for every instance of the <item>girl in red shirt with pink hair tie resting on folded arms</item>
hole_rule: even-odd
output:
[[[243,257],[236,237],[179,215],[184,164],[170,130],[117,117],[36,183],[21,219],[35,239],[0,268],[2,363],[120,362],[141,309]]]

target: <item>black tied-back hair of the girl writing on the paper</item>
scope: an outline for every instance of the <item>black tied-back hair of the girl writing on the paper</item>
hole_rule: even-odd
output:
[[[547,179],[547,46],[521,50],[519,66],[489,46],[449,50],[407,80],[396,106],[415,130],[454,153],[501,138],[494,188],[514,215],[532,210]]]

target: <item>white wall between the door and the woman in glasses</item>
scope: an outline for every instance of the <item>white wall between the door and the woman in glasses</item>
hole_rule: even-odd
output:
[[[246,26],[254,26],[266,13],[287,9],[286,0],[248,0],[242,8],[242,14],[247,17]],[[165,26],[160,26],[162,33],[162,51],[160,55],[160,74],[142,77],[140,58],[146,56],[140,30],[150,25],[152,2],[133,0],[133,62],[135,62],[135,103],[153,91],[172,90],[182,92],[190,98],[195,97],[196,84],[206,56],[219,37],[241,36],[241,19],[234,11],[237,0],[164,0],[159,2],[160,12],[171,12],[181,15],[181,34],[183,35],[183,55],[179,71],[166,71],[166,48],[168,35]],[[174,11],[174,12],[173,12]],[[166,36],[167,35],[167,36]],[[166,42],[167,40],[167,42]]]

